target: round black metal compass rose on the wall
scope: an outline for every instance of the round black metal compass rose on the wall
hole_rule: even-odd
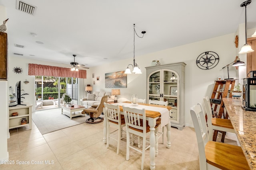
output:
[[[219,63],[219,60],[217,53],[206,51],[197,57],[196,65],[203,70],[208,70],[214,68]]]

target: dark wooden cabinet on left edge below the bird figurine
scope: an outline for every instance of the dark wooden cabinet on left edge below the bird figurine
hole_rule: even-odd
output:
[[[0,32],[0,80],[8,78],[7,33]]]

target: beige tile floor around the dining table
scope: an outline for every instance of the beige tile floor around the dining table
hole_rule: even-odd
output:
[[[107,149],[102,139],[103,122],[82,123],[45,135],[34,123],[31,130],[28,126],[10,129],[9,162],[14,164],[1,164],[0,170],[140,170],[140,153],[130,150],[130,160],[126,161],[125,140],[117,155],[116,141],[110,139]],[[159,142],[156,170],[199,170],[194,128],[180,131],[172,127],[170,149],[161,143],[162,138]],[[150,169],[149,150],[144,169]]]

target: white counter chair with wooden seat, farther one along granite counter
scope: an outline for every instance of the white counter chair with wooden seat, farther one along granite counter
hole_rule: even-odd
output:
[[[208,128],[209,128],[208,137],[209,137],[210,141],[216,141],[216,139],[213,139],[213,131],[214,130],[223,131],[224,133],[226,133],[226,132],[235,133],[234,127],[233,127],[230,119],[222,119],[222,118],[213,117],[212,107],[211,107],[210,100],[209,100],[208,96],[204,97],[204,106],[206,108],[207,124],[208,124]],[[224,137],[222,140],[223,142],[224,142]]]

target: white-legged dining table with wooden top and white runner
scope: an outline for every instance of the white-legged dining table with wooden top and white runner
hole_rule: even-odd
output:
[[[120,107],[120,114],[124,114],[123,107],[132,107],[138,109],[145,109],[146,112],[146,120],[148,120],[148,125],[150,126],[150,170],[154,170],[156,168],[155,164],[155,157],[157,156],[158,147],[156,143],[156,136],[155,136],[155,126],[156,126],[156,119],[161,117],[161,127],[164,128],[166,126],[166,136],[167,136],[167,143],[166,147],[170,149],[171,146],[171,123],[170,123],[170,110],[172,109],[171,106],[160,106],[154,104],[143,104],[139,103],[138,105],[134,105],[131,102],[118,102],[118,103],[109,103],[114,105],[119,105]],[[103,112],[105,114],[105,109],[103,108]],[[103,142],[107,142],[107,120],[104,119],[104,129],[103,129],[104,137]],[[164,134],[163,134],[164,135]]]

